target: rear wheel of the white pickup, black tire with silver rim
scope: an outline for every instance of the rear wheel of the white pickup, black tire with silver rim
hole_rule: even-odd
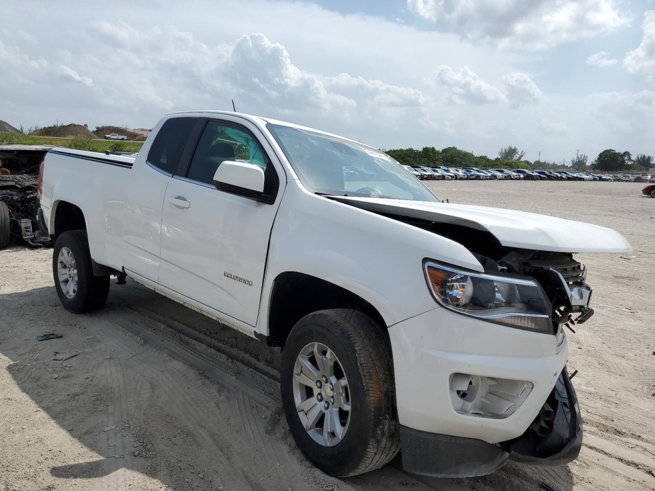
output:
[[[101,308],[109,295],[109,276],[94,276],[86,230],[62,232],[54,243],[52,275],[66,310],[83,314]]]

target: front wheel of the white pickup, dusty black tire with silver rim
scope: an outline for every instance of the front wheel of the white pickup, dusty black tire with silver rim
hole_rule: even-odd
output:
[[[369,316],[333,309],[300,319],[284,346],[280,380],[291,435],[322,471],[358,475],[398,452],[391,347]]]

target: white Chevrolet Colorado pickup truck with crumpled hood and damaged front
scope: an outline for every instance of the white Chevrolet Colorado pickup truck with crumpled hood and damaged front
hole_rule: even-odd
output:
[[[614,230],[442,202],[373,147],[219,111],[162,118],[136,158],[53,149],[40,189],[65,308],[130,276],[282,348],[290,432],[331,475],[400,446],[443,477],[578,455],[572,253],[629,251]]]

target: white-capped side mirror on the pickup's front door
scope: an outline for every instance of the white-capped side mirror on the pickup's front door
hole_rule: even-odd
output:
[[[264,194],[264,170],[246,162],[221,162],[214,173],[214,186],[219,191],[255,201],[265,202],[270,198]]]

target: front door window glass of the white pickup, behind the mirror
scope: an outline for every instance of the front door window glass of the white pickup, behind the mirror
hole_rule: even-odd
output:
[[[226,160],[255,164],[266,170],[269,158],[250,133],[231,124],[209,121],[193,153],[187,178],[209,185]]]

